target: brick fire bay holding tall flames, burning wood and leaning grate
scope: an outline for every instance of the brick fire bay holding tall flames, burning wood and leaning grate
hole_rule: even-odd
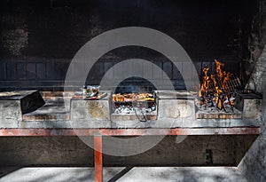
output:
[[[215,66],[215,73],[213,74],[209,73],[208,67],[203,68],[204,75],[200,84],[199,95],[196,98],[197,119],[241,119],[243,110],[248,110],[248,107],[260,107],[261,101],[255,102],[256,104],[253,103],[252,106],[243,107],[244,98],[262,98],[256,94],[252,94],[253,97],[246,97],[239,78],[224,71],[223,63],[216,59]]]

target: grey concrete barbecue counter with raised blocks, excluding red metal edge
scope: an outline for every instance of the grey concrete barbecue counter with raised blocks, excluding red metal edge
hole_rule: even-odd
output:
[[[98,100],[72,98],[72,93],[42,92],[45,105],[38,91],[23,91],[12,97],[0,95],[0,106],[15,115],[1,120],[1,128],[41,128],[41,129],[71,129],[71,128],[113,128],[113,129],[144,129],[144,128],[245,128],[259,127],[258,118],[243,119],[195,119],[194,98],[187,91],[155,91],[157,103],[157,120],[140,122],[137,120],[112,120],[112,92],[105,91],[106,97]],[[11,92],[8,92],[9,94]],[[66,107],[63,98],[70,99],[70,106]],[[20,109],[20,99],[26,98],[31,103],[35,100],[35,111],[23,114]],[[37,99],[36,99],[37,98]],[[9,103],[16,101],[18,107]],[[24,101],[25,103],[25,101]],[[9,107],[11,106],[11,107]],[[24,104],[28,106],[28,104]],[[2,107],[1,107],[2,108]],[[1,110],[1,116],[6,115]],[[18,115],[17,115],[18,113]],[[20,115],[19,115],[20,114]]]

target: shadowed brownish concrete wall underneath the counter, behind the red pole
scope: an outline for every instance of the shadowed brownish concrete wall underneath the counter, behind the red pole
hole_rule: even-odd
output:
[[[127,157],[105,154],[104,164],[106,166],[237,165],[255,137],[189,136],[183,142],[176,143],[176,137],[168,136],[143,154]],[[1,165],[93,166],[93,150],[77,137],[0,138],[0,143]],[[239,145],[236,145],[237,143]],[[213,163],[207,164],[206,149],[212,150]]]

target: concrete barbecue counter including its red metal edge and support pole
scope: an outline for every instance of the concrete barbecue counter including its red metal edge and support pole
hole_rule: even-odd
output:
[[[252,118],[195,119],[194,100],[187,92],[157,91],[156,94],[158,119],[140,122],[111,120],[111,92],[99,100],[71,99],[70,110],[65,108],[67,105],[62,97],[47,99],[43,93],[46,100],[43,107],[24,115],[20,112],[17,118],[8,121],[1,120],[0,137],[92,136],[95,181],[103,181],[105,136],[257,136],[260,133],[259,121]],[[4,100],[4,106],[9,106],[6,105],[8,102]],[[3,110],[1,115],[3,117]]]

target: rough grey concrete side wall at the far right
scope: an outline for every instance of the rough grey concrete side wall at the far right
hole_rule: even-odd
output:
[[[261,135],[247,151],[243,160],[239,163],[239,169],[243,171],[251,182],[266,181],[266,1],[261,4],[261,38],[256,40],[251,64],[254,71],[247,84],[248,89],[260,92],[262,99]]]

